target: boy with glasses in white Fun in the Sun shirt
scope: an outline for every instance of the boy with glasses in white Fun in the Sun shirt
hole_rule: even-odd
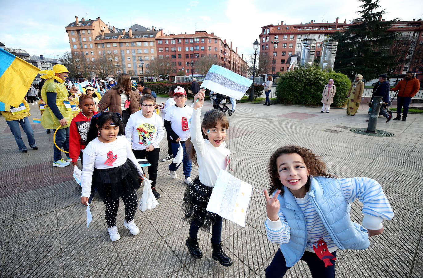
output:
[[[137,159],[146,158],[148,166],[148,179],[151,180],[151,190],[156,199],[160,194],[156,191],[157,166],[159,164],[159,143],[165,136],[162,118],[154,112],[156,102],[154,96],[143,95],[141,110],[129,117],[125,127],[125,137],[132,140],[132,152]]]

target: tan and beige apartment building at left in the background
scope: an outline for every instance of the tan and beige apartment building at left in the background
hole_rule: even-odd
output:
[[[156,58],[156,37],[165,36],[162,29],[150,29],[135,24],[125,29],[107,25],[100,17],[96,20],[78,20],[66,26],[72,54],[86,62],[113,61],[115,73],[128,73],[137,79],[146,76],[148,61]],[[139,60],[145,60],[141,65]]]

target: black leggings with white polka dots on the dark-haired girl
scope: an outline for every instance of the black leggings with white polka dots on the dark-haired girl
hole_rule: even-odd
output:
[[[137,212],[138,199],[137,192],[132,191],[130,194],[121,194],[122,201],[125,204],[125,220],[126,223],[134,220],[135,213]],[[116,215],[118,214],[119,207],[119,197],[113,198],[112,196],[107,196],[103,199],[104,206],[106,211],[104,212],[104,217],[106,218],[107,226],[109,228],[116,226]]]

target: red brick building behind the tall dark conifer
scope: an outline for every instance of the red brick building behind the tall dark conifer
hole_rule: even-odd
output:
[[[385,20],[380,18],[379,20]],[[347,26],[354,23],[338,22],[338,18],[333,23],[316,23],[313,20],[307,24],[286,25],[266,25],[261,27],[260,51],[268,55],[273,55],[273,73],[286,71],[289,65],[286,63],[288,57],[293,54],[300,55],[301,40],[305,38],[316,39],[316,57],[321,55],[321,47],[324,39],[336,31],[342,32]],[[407,61],[398,65],[394,73],[405,74],[406,71],[423,71],[423,21],[398,21],[390,28],[391,32],[401,33],[401,38],[408,37],[409,48],[404,52]],[[397,44],[403,44],[397,43]],[[269,72],[271,74],[272,72]]]

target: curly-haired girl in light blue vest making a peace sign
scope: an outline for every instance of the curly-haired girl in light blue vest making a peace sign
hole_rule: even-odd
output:
[[[311,150],[280,147],[269,161],[270,188],[266,190],[267,238],[280,245],[266,277],[283,277],[299,260],[313,277],[335,277],[338,249],[365,249],[368,237],[382,234],[382,220],[394,214],[375,180],[337,178]],[[363,203],[363,223],[350,219],[351,202]]]

